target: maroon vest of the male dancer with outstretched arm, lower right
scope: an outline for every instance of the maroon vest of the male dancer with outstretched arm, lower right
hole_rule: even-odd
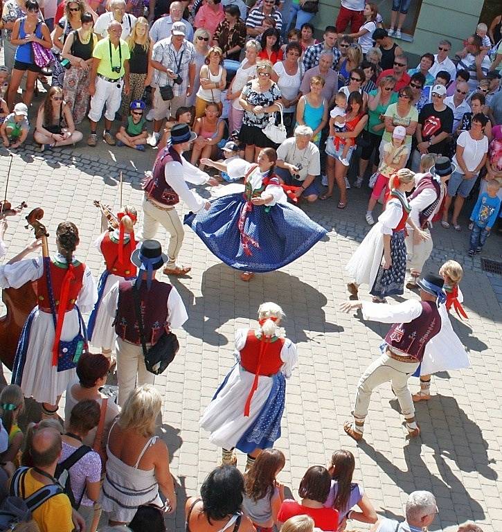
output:
[[[424,348],[441,329],[441,317],[433,301],[420,301],[422,314],[409,323],[394,323],[388,330],[385,342],[419,362],[424,357]]]

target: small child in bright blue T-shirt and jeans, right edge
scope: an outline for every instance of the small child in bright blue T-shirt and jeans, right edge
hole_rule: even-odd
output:
[[[500,184],[496,179],[487,182],[486,192],[479,195],[471,214],[472,233],[469,242],[469,256],[481,253],[500,212],[501,200],[497,196]],[[470,227],[470,226],[469,226]]]

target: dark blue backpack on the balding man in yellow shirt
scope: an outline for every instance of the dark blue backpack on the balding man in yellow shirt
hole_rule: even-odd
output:
[[[44,502],[55,495],[63,493],[61,486],[49,484],[32,493],[29,497],[24,496],[24,477],[30,468],[21,467],[15,470],[10,481],[9,496],[0,504],[0,529],[6,530],[17,523],[31,520],[31,514]]]

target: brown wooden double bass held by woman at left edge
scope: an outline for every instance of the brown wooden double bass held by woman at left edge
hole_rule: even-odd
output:
[[[43,216],[42,209],[33,209],[26,216],[28,222],[26,228],[33,227],[35,238],[42,238],[42,254],[48,257],[48,233],[40,222]],[[19,288],[4,288],[2,291],[2,301],[6,305],[7,312],[0,318],[0,360],[11,370],[24,323],[37,305],[36,286],[36,281],[28,281]]]

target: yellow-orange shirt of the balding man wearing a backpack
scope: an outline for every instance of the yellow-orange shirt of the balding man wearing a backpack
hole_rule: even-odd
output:
[[[35,491],[44,487],[42,482],[37,481],[29,470],[24,477],[24,496],[29,497]],[[32,513],[37,522],[40,532],[72,532],[70,499],[64,493],[54,495],[39,506]]]

